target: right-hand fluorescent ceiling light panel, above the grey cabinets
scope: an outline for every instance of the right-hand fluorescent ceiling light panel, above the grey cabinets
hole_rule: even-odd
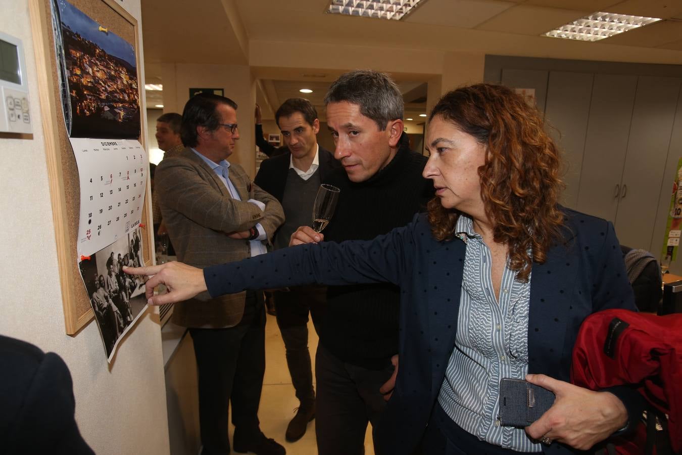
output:
[[[564,38],[565,40],[599,41],[624,31],[653,24],[659,20],[662,19],[595,12],[542,35],[552,38]]]

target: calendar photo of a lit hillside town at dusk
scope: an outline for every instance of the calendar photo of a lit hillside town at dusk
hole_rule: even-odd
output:
[[[133,46],[68,1],[57,0],[57,5],[70,137],[138,138],[140,103]]]

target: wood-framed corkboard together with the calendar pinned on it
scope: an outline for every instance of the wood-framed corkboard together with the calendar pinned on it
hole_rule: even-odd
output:
[[[121,0],[28,2],[65,333],[78,336],[94,317],[108,358],[117,344],[112,340],[122,339],[146,308],[138,305],[144,284],[123,276],[121,265],[153,261],[140,128],[142,33],[128,6]]]

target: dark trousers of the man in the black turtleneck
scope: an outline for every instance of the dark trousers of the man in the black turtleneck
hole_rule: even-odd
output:
[[[389,359],[383,370],[347,364],[318,344],[315,433],[320,455],[365,453],[367,424],[375,427],[386,407],[379,387],[393,370]]]

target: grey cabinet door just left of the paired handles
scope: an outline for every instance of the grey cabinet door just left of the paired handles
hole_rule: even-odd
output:
[[[637,76],[595,74],[578,210],[612,222],[621,192],[636,87]]]

